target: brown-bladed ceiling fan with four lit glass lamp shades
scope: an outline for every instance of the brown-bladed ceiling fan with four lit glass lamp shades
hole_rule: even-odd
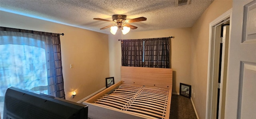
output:
[[[138,27],[132,26],[128,23],[141,22],[141,21],[146,21],[147,20],[147,18],[145,18],[145,17],[139,17],[139,18],[126,20],[126,15],[113,15],[112,16],[112,19],[113,19],[112,21],[111,20],[105,20],[105,19],[102,19],[102,18],[93,18],[93,19],[114,23],[112,25],[109,25],[109,26],[106,26],[106,27],[103,27],[103,28],[100,29],[100,30],[103,30],[103,29],[106,29],[106,28],[110,27],[110,32],[114,35],[116,34],[116,31],[117,31],[118,28],[122,29],[123,34],[127,34],[130,31],[130,29],[138,28]]]

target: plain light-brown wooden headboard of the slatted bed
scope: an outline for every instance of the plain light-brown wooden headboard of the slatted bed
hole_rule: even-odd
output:
[[[170,89],[172,69],[121,66],[121,80],[126,84]]]

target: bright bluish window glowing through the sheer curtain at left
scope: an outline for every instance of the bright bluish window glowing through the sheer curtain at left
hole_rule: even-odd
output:
[[[0,45],[0,96],[4,96],[6,89],[11,86],[32,89],[48,85],[45,55],[43,48]],[[47,90],[40,93],[48,94]]]

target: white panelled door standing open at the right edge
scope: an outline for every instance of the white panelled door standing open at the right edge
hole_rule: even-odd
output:
[[[256,119],[256,0],[233,0],[231,24],[225,119]]]

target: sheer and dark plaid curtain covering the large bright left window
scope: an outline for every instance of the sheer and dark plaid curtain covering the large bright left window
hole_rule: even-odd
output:
[[[0,27],[0,81],[65,99],[60,35]]]

